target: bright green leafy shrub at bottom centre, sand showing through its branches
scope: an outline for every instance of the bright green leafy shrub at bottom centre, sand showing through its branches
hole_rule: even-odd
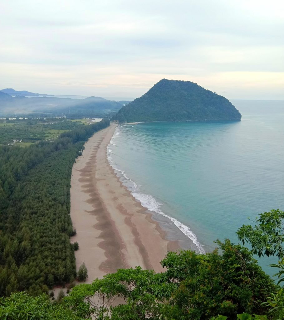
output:
[[[65,303],[82,318],[163,319],[165,302],[176,287],[167,283],[164,273],[155,274],[141,267],[119,269],[92,284],[76,286]]]

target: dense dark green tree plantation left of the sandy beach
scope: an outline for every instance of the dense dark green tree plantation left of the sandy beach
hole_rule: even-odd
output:
[[[108,125],[80,125],[27,148],[0,147],[0,296],[41,294],[75,278],[71,170],[84,142]]]

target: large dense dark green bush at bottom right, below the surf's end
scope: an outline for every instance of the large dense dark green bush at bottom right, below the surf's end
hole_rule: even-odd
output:
[[[179,288],[170,299],[172,319],[210,319],[223,314],[234,319],[241,312],[265,313],[261,303],[277,287],[258,266],[248,249],[225,240],[206,255],[170,252],[162,261]]]

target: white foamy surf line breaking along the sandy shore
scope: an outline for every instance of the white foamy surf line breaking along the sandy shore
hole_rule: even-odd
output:
[[[113,158],[111,156],[111,154],[113,154],[113,152],[112,152],[112,149],[109,147],[116,146],[116,144],[113,141],[115,139],[115,136],[118,136],[118,135],[119,135],[119,126],[115,129],[115,132],[110,140],[110,144],[108,145],[107,159],[108,159],[111,167],[115,171],[119,172],[122,175],[122,177],[125,178],[126,181],[124,181],[123,183],[127,187],[127,189],[131,192],[132,196],[136,200],[138,200],[144,208],[146,208],[150,211],[154,211],[158,214],[161,214],[162,216],[171,220],[173,222],[173,224],[196,245],[196,248],[198,249],[198,251],[202,254],[205,254],[205,250],[203,249],[202,244],[197,240],[196,235],[190,230],[190,228],[188,228],[188,226],[184,225],[183,223],[181,223],[177,219],[175,219],[171,216],[168,216],[167,214],[165,214],[165,212],[161,211],[160,209],[163,204],[158,203],[157,200],[153,196],[139,192],[140,190],[139,190],[137,183],[134,182],[133,180],[131,180],[129,177],[127,177],[125,171],[121,170],[117,166],[117,164],[113,161]]]

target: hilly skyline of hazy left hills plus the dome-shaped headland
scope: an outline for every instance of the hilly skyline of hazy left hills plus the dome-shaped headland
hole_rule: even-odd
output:
[[[119,122],[241,120],[242,117],[225,97],[190,81],[167,79],[132,102],[101,97],[58,98],[14,89],[0,91],[1,116],[27,114],[74,117],[116,114]]]

